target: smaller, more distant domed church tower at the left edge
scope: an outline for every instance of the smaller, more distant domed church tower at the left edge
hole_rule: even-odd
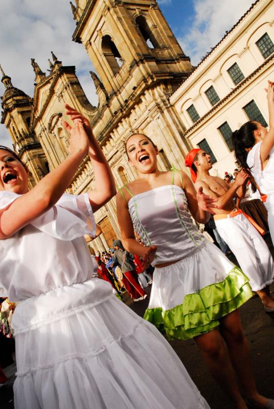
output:
[[[5,75],[0,65],[2,82],[6,88],[2,99],[1,123],[9,130],[14,150],[30,171],[30,187],[48,173],[45,154],[31,129],[32,98],[15,88],[11,78]]]

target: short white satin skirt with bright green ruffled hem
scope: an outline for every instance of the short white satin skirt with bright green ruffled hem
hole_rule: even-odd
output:
[[[190,339],[216,328],[253,293],[243,272],[205,240],[196,252],[155,268],[144,318],[170,339]]]

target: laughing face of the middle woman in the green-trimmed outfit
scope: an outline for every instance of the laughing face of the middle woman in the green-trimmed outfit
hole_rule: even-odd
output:
[[[129,163],[139,173],[151,173],[157,168],[158,149],[142,134],[132,135],[126,143]]]

